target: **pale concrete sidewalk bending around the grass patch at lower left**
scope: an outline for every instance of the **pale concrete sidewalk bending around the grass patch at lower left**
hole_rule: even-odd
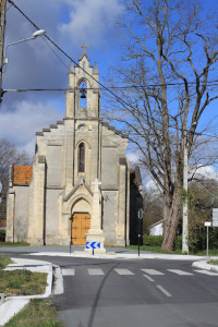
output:
[[[7,324],[15,314],[17,314],[31,299],[48,298],[51,293],[52,287],[52,265],[47,262],[32,261],[23,258],[11,258],[15,264],[7,266],[5,270],[27,269],[37,272],[47,272],[47,288],[46,292],[40,295],[26,295],[26,296],[8,296],[0,305],[0,326]]]

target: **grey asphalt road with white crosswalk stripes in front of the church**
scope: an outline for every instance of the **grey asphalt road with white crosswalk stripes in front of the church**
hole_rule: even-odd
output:
[[[218,274],[195,271],[191,262],[36,259],[62,269],[64,293],[50,299],[65,326],[218,326]]]

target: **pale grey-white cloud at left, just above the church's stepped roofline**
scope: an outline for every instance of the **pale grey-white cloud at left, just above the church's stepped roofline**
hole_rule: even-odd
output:
[[[35,133],[62,118],[63,112],[56,104],[23,100],[14,106],[13,111],[0,112],[0,138],[8,140],[17,149],[26,150],[33,156]]]

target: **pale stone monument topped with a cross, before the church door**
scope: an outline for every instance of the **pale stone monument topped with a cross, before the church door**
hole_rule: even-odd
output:
[[[95,253],[105,253],[105,233],[101,229],[101,193],[99,190],[101,183],[95,179],[92,184],[94,185],[93,213],[90,217],[90,229],[86,234],[86,242],[89,242],[90,244],[93,242],[96,242],[96,244],[100,243],[100,249],[97,247],[94,251]],[[93,249],[85,249],[85,252],[93,253]]]

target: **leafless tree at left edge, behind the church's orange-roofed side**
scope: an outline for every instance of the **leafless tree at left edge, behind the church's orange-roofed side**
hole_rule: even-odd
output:
[[[9,166],[11,162],[15,165],[29,165],[31,159],[25,152],[16,150],[16,148],[7,140],[0,140],[0,181],[2,183],[0,220],[5,219]]]

